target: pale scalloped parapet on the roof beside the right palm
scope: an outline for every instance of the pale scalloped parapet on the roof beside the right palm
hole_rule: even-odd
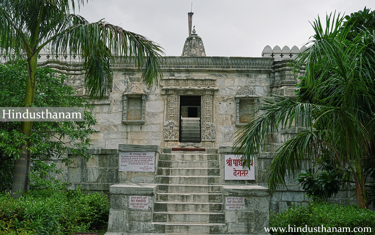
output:
[[[294,59],[297,54],[305,49],[305,46],[301,47],[301,49],[298,49],[296,46],[293,46],[291,49],[289,49],[287,46],[280,49],[279,46],[275,46],[272,49],[269,45],[267,45],[262,51],[262,57],[274,58],[275,61],[281,61],[282,59]]]

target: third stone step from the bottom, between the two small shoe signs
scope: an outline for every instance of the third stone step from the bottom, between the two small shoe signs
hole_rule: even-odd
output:
[[[222,212],[223,203],[218,202],[155,202],[155,212]]]

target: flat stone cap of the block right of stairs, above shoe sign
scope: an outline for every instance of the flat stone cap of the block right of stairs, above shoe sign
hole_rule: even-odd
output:
[[[268,197],[269,189],[258,185],[222,185],[224,196]]]

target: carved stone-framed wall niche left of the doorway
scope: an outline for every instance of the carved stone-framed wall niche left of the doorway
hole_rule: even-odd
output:
[[[123,93],[124,124],[144,124],[145,93]]]

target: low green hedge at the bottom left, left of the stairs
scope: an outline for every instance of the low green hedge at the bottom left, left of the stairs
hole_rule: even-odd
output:
[[[0,194],[0,235],[70,235],[93,232],[108,221],[107,196],[81,190],[30,190],[17,199]]]

